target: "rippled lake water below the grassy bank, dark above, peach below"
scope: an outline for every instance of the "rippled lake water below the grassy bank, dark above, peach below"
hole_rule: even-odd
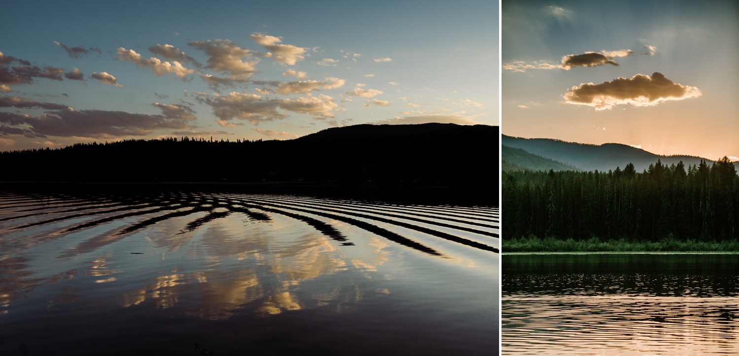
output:
[[[502,259],[503,355],[736,355],[739,255]]]

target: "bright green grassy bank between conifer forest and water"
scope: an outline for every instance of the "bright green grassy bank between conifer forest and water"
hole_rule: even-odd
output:
[[[672,236],[656,242],[630,241],[627,239],[602,241],[597,237],[590,239],[556,239],[537,236],[505,239],[502,242],[503,253],[513,252],[668,252],[668,251],[739,251],[739,241],[698,241],[692,239],[676,239]]]

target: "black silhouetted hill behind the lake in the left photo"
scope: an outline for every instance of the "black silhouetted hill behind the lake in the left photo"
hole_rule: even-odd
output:
[[[295,140],[188,137],[0,153],[2,180],[491,185],[498,127],[358,125]]]

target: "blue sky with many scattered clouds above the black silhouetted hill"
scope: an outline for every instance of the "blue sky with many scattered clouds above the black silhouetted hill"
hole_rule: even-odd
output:
[[[499,7],[469,1],[4,1],[0,151],[499,125]]]

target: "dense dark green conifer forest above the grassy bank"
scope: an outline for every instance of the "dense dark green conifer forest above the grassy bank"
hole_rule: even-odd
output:
[[[607,172],[508,171],[502,181],[508,239],[739,237],[739,177],[727,157],[687,167],[657,160],[641,173],[633,164]]]

